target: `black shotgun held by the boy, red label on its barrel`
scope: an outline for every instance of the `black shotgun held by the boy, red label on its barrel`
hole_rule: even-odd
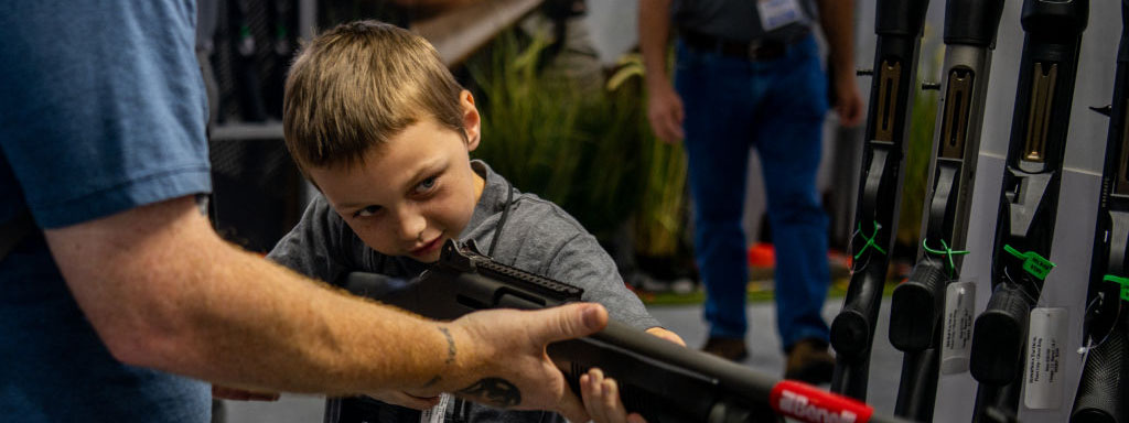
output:
[[[540,309],[579,301],[583,290],[491,261],[473,244],[444,245],[439,263],[395,290],[380,276],[352,273],[345,288],[426,317],[448,320],[490,308]],[[874,415],[866,404],[800,382],[780,380],[737,363],[675,345],[618,321],[592,336],[557,342],[549,356],[574,391],[592,368],[620,386],[624,406],[648,422],[765,422],[779,415],[806,422],[900,422]],[[336,416],[362,400],[331,400]],[[351,405],[353,404],[353,405]],[[361,420],[332,420],[353,423]]]

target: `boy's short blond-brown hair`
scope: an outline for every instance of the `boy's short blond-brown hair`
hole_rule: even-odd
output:
[[[290,68],[287,149],[305,171],[360,165],[369,149],[428,116],[465,136],[462,90],[422,37],[375,20],[339,25]]]

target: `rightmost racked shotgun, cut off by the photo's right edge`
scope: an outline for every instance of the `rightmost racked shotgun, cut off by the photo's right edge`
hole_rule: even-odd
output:
[[[1129,307],[1122,285],[1129,268],[1129,0],[1121,1],[1121,44],[1105,142],[1084,336],[1089,347],[1074,399],[1071,423],[1129,422]],[[1112,277],[1111,277],[1112,276]],[[1124,287],[1124,288],[1123,288]]]

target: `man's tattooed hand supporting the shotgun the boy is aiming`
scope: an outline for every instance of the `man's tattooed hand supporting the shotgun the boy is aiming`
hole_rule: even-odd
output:
[[[536,311],[472,312],[455,320],[452,331],[452,345],[472,350],[469,354],[458,352],[470,358],[470,362],[460,363],[469,373],[434,384],[434,389],[454,385],[455,395],[475,403],[497,408],[549,409],[572,422],[587,422],[588,413],[569,390],[545,346],[590,335],[606,325],[607,310],[594,303]]]

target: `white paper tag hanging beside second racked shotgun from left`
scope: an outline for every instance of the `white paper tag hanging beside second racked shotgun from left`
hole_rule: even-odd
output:
[[[940,373],[969,371],[972,355],[972,324],[975,321],[977,283],[959,281],[945,289],[944,336],[940,344]]]

